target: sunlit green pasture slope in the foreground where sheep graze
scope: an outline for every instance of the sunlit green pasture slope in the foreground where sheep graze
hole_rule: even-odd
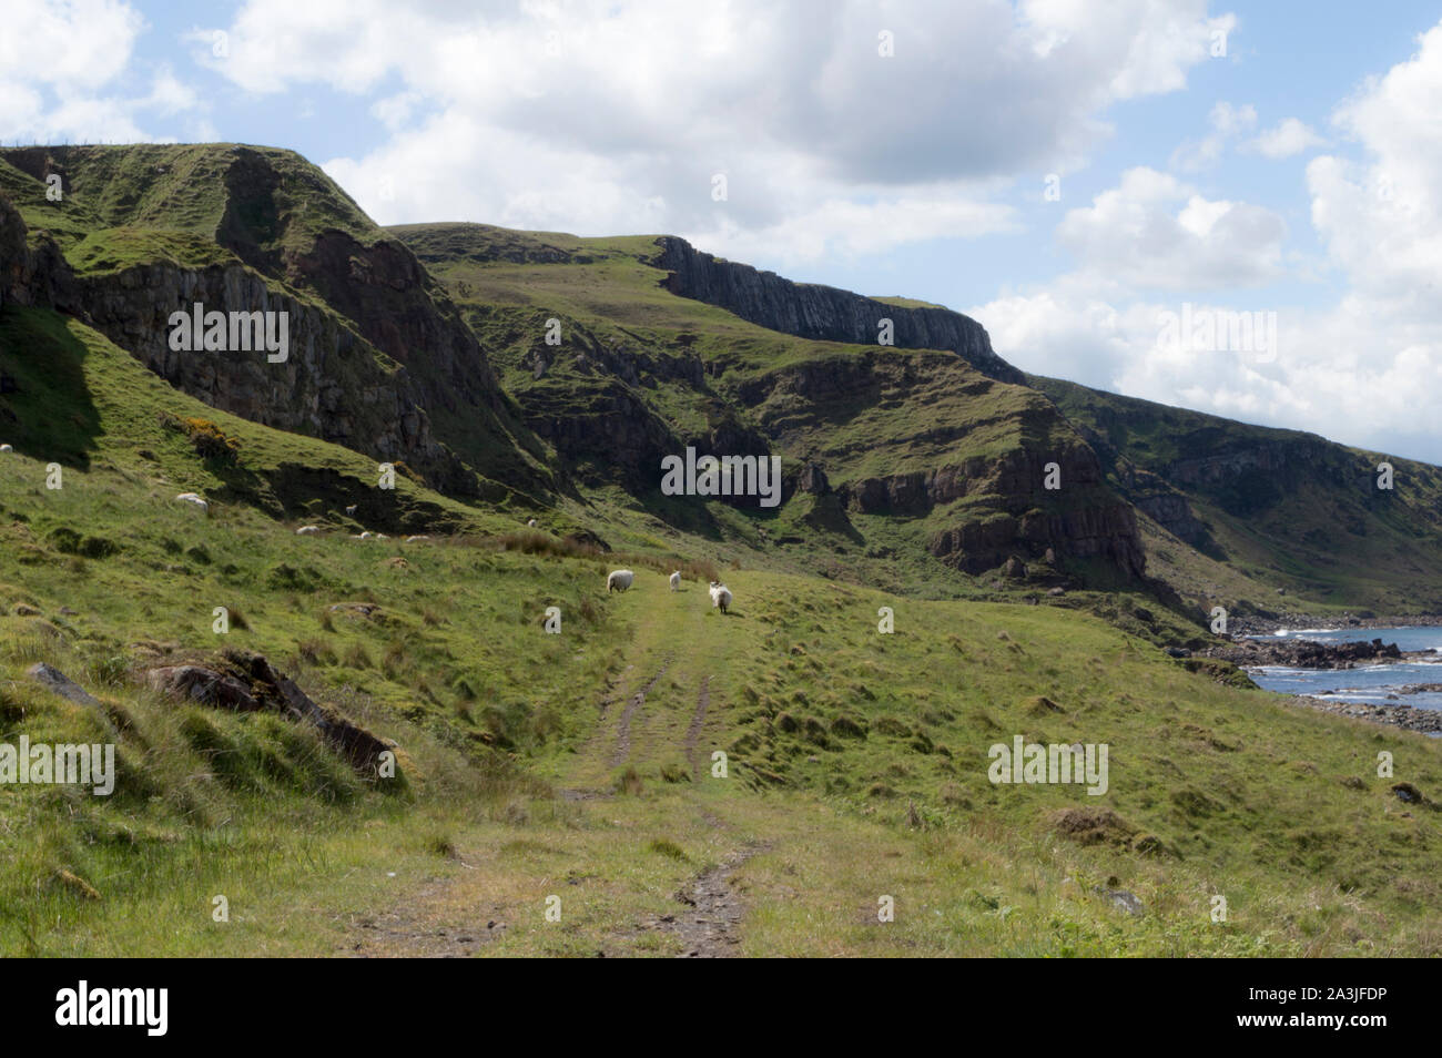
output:
[[[0,788],[6,953],[672,953],[675,937],[643,927],[750,840],[763,850],[735,885],[756,954],[1442,947],[1439,813],[1396,800],[1374,764],[1389,750],[1397,778],[1435,794],[1436,742],[1223,688],[1070,610],[733,569],[737,608],[722,620],[698,582],[665,591],[659,559],[607,598],[604,566],[585,556],[464,536],[362,543],[337,513],[382,499],[362,457],[189,401],[45,311],[0,316],[0,368],[19,382],[0,398],[16,445],[3,457],[0,741],[99,737],[97,718],[23,676],[37,659],[128,725],[112,799]],[[245,502],[218,499],[234,471],[202,461],[160,412],[209,418],[239,441]],[[43,487],[50,461],[65,473],[58,492]],[[340,532],[297,538],[296,519],[252,506],[307,500],[287,464],[335,470],[304,517]],[[176,503],[183,490],[216,499],[212,516]],[[384,502],[473,533],[509,528],[405,481]],[[407,568],[388,565],[397,556]],[[379,620],[327,610],[358,600],[379,604]],[[17,604],[40,614],[13,615]],[[551,604],[565,615],[558,637],[538,627]],[[890,637],[875,630],[883,604],[897,614]],[[410,793],[366,787],[288,724],[176,706],[128,682],[137,641],[213,649],[213,605],[248,626],[228,643],[398,739]],[[620,752],[624,702],[663,664]],[[1109,742],[1109,794],[992,787],[986,747],[1014,734]],[[727,780],[705,768],[717,748],[731,755]],[[640,793],[561,793],[604,794],[626,767]],[[1135,827],[1125,846],[1056,836],[1054,812],[1094,801]],[[1141,835],[1167,852],[1138,850]],[[1128,917],[1097,892],[1109,876],[1148,912]],[[559,924],[542,918],[554,892]],[[1216,892],[1226,925],[1208,917]],[[225,925],[211,918],[218,894],[231,899]],[[897,898],[894,924],[875,924],[883,894]],[[495,940],[459,940],[477,934]]]

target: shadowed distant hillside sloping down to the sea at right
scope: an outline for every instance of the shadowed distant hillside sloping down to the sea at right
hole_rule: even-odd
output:
[[[1237,588],[1237,607],[1250,591],[1278,588],[1384,613],[1442,607],[1442,468],[1058,379],[1030,382],[1077,425],[1122,496],[1207,559],[1262,581]],[[1383,461],[1392,489],[1379,487]],[[1188,562],[1184,552],[1177,561]],[[1226,603],[1214,574],[1198,568],[1204,608]]]

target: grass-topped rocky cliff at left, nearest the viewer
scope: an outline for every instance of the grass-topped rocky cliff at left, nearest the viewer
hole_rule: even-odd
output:
[[[0,157],[36,186],[59,174],[66,203],[88,210],[101,241],[130,248],[120,234],[144,232],[163,246],[170,232],[183,232],[244,262],[176,267],[163,249],[147,248],[121,259],[138,258],[131,267],[82,277],[82,311],[173,385],[267,425],[404,460],[461,496],[554,487],[544,445],[522,425],[444,288],[300,156],[151,144]],[[166,317],[192,301],[290,311],[291,363],[172,353]]]

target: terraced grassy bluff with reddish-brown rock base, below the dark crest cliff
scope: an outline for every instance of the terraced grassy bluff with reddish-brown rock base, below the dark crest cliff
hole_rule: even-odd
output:
[[[924,545],[947,565],[979,574],[1051,552],[1053,562],[1099,559],[1120,579],[1144,575],[1135,513],[1106,487],[1096,453],[1034,394],[946,355],[878,352],[789,365],[738,395],[805,467],[796,487],[833,493],[859,515],[927,519]],[[852,434],[848,424],[878,406],[910,414],[885,435]],[[1044,487],[1051,463],[1057,490]]]

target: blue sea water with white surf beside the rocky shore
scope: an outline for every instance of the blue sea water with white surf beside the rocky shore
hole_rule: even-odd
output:
[[[1402,650],[1442,652],[1442,627],[1397,628],[1283,628],[1276,636],[1253,639],[1306,639],[1319,643],[1348,643],[1354,640],[1396,643]],[[1338,702],[1367,702],[1371,705],[1413,705],[1419,709],[1442,709],[1442,692],[1416,695],[1397,693],[1407,683],[1442,683],[1442,653],[1435,663],[1399,662],[1367,664],[1355,669],[1288,669],[1265,666],[1252,669],[1250,676],[1266,690],[1283,695],[1312,695]],[[1396,698],[1389,698],[1396,695]]]

